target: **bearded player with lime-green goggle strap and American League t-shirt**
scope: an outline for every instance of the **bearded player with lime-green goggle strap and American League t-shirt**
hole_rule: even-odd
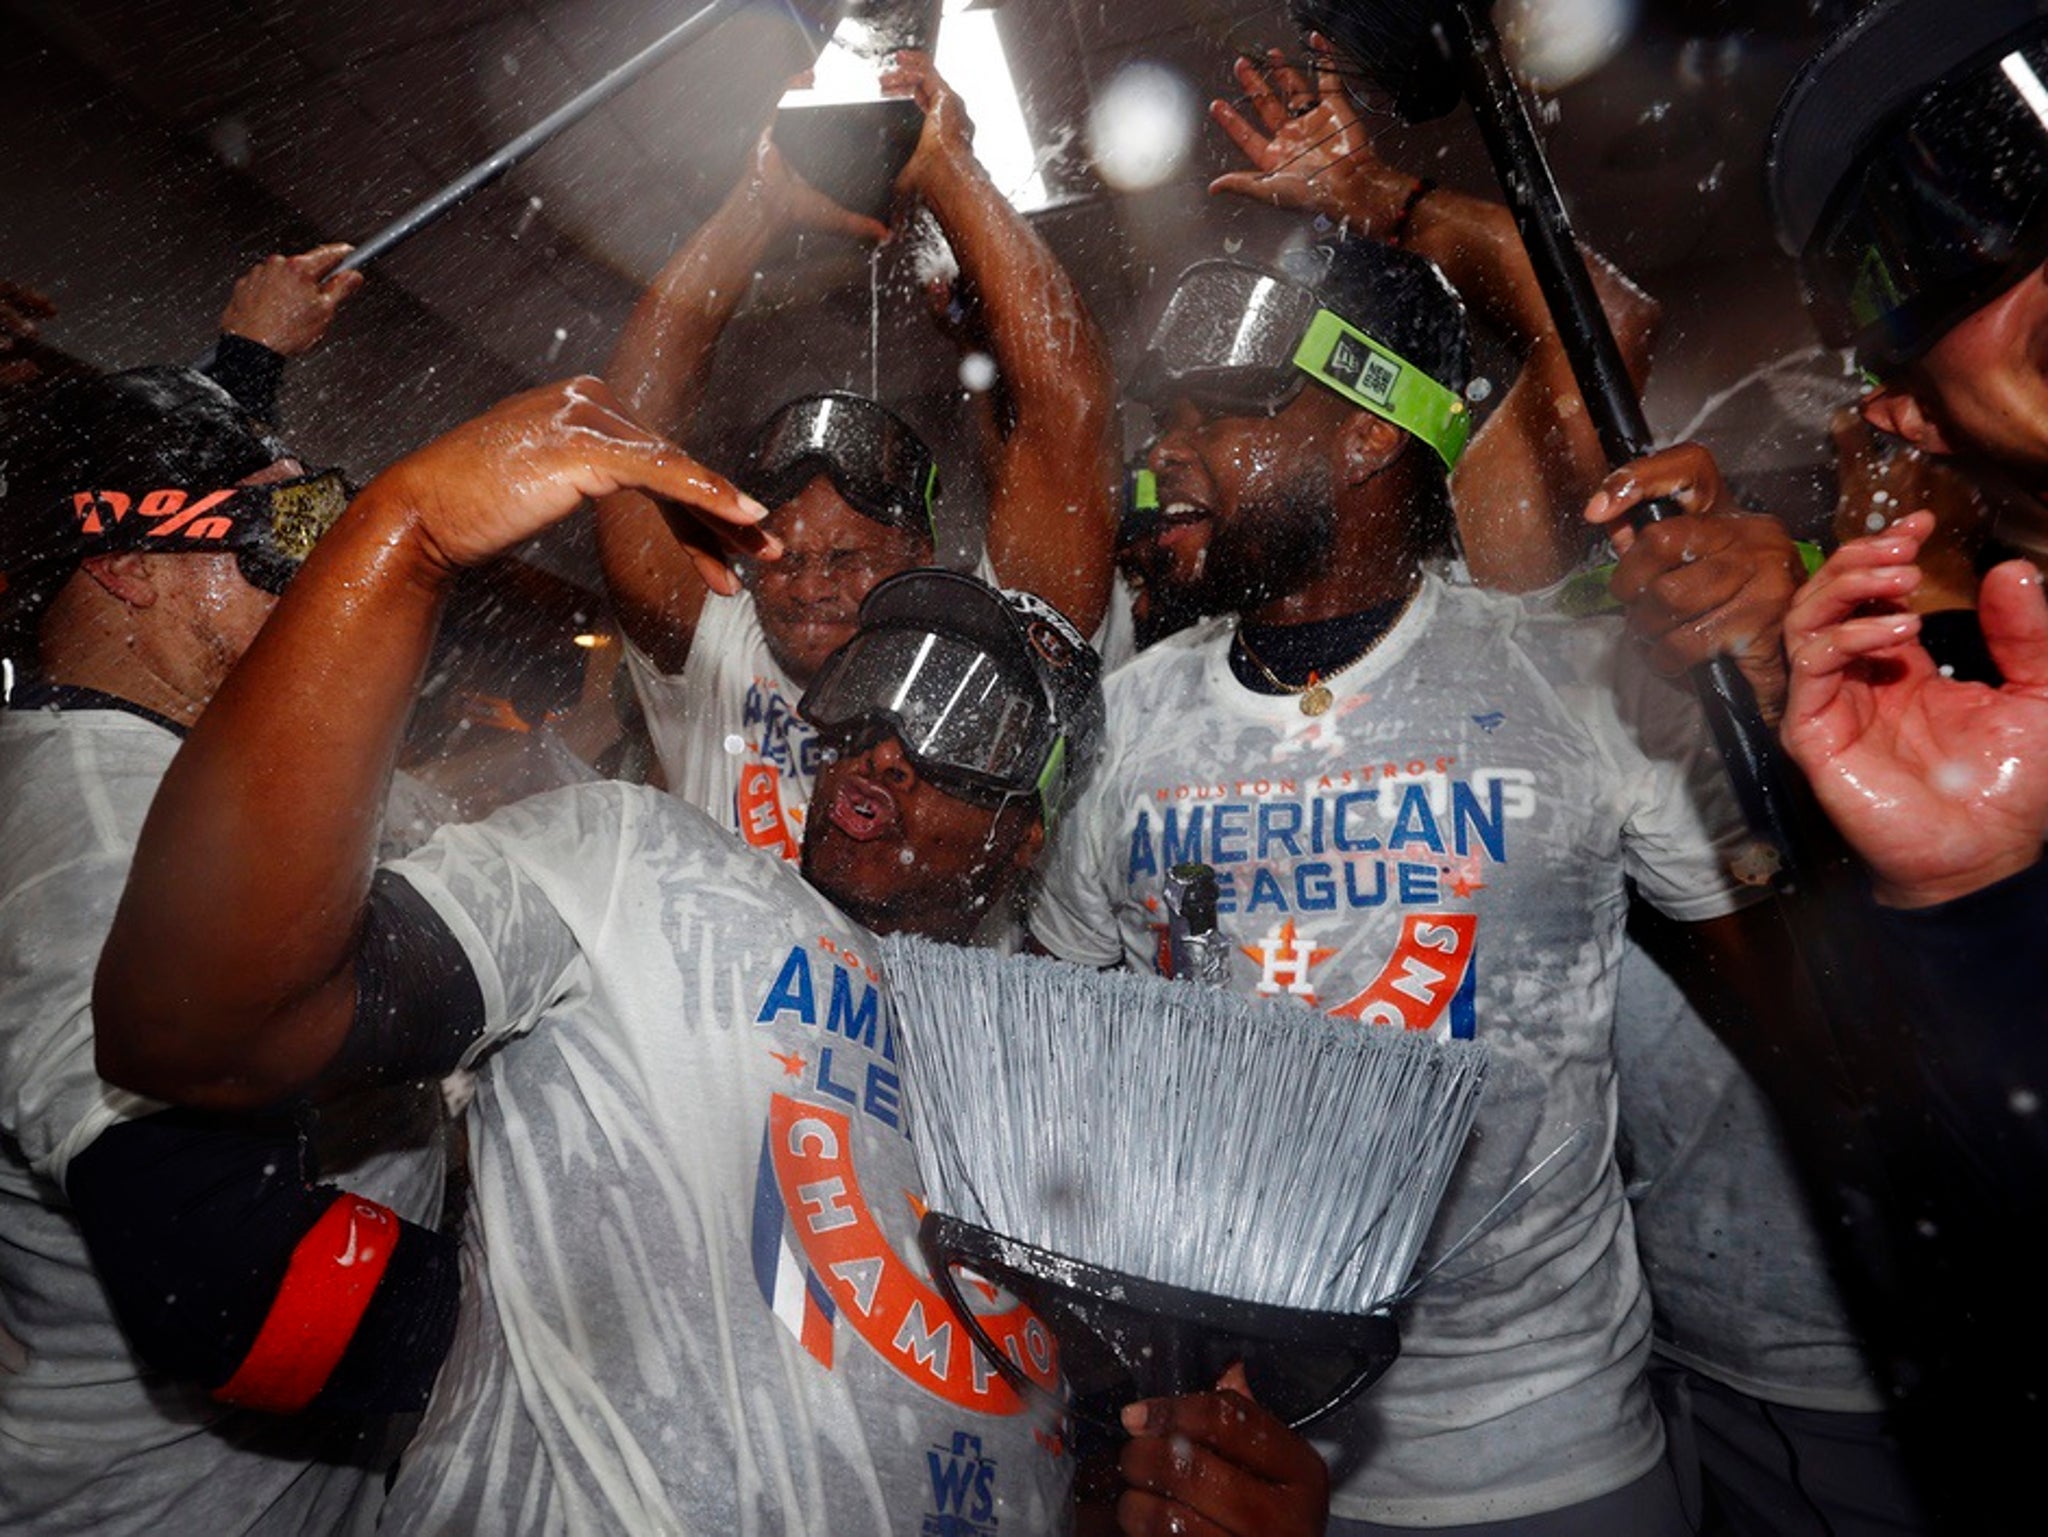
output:
[[[1307,271],[1182,275],[1137,381],[1159,543],[1200,545],[1237,625],[1112,674],[1030,924],[1055,955],[1151,965],[1161,881],[1198,859],[1231,986],[1497,1043],[1440,1232],[1534,1193],[1417,1297],[1339,1430],[1333,1508],[1366,1533],[1677,1533],[1612,1160],[1614,963],[1630,877],[1735,941],[1743,834],[1692,701],[1614,625],[1425,570],[1464,371],[1462,307],[1419,256],[1343,240]]]

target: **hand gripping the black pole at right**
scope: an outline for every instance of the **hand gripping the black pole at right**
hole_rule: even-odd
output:
[[[1677,502],[1681,516],[1628,523],[1657,498]],[[1698,443],[1616,469],[1587,502],[1585,518],[1622,553],[1610,590],[1651,664],[1677,674],[1733,656],[1763,717],[1776,721],[1786,697],[1780,631],[1806,576],[1784,525],[1735,506],[1720,467]]]

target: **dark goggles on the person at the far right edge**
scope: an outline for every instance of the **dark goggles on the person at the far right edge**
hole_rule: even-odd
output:
[[[1923,96],[1835,189],[1800,256],[1821,334],[1911,363],[2048,254],[2048,39]]]

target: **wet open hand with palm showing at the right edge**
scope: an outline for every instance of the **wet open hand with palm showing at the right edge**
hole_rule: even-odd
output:
[[[1878,900],[1966,896],[2048,836],[2048,603],[2028,562],[1993,568],[1978,619],[2005,684],[1944,678],[1901,605],[1933,533],[1915,512],[1837,549],[1792,603],[1784,744],[1864,857]]]

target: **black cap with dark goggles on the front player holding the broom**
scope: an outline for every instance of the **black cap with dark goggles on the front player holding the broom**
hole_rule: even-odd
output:
[[[821,732],[887,719],[942,787],[1036,795],[1051,824],[1102,736],[1102,658],[1051,603],[938,568],[860,605],[799,705]]]

